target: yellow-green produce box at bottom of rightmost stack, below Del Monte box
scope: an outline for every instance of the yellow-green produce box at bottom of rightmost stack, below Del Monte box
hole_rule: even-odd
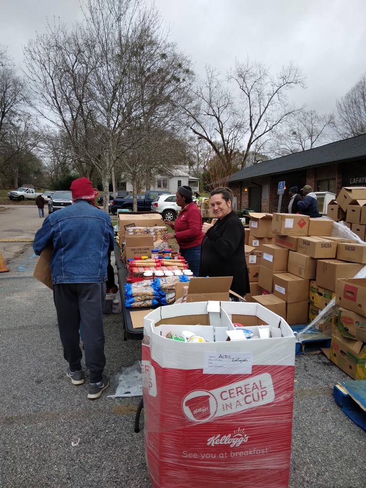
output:
[[[366,379],[366,345],[333,330],[330,359],[354,380]]]

